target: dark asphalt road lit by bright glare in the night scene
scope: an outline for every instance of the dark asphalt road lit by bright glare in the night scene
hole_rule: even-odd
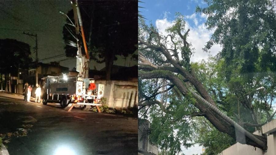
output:
[[[23,97],[0,92],[0,133],[33,125],[24,137],[7,144],[10,155],[137,154],[136,118],[24,103]]]

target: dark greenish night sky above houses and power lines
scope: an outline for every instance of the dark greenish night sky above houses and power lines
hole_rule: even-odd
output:
[[[93,1],[92,1],[93,2]],[[69,0],[42,0],[42,1],[0,1],[0,39],[16,39],[28,43],[31,46],[32,58],[35,60],[35,37],[23,34],[29,32],[38,35],[38,59],[45,59],[64,54],[62,29],[66,17],[59,13],[67,13],[72,8]],[[49,63],[59,61],[67,57],[42,60]],[[114,65],[133,66],[137,62],[130,57],[118,58]],[[76,59],[60,61],[61,66],[72,69],[76,66]],[[90,63],[90,69],[100,70],[104,63]]]

